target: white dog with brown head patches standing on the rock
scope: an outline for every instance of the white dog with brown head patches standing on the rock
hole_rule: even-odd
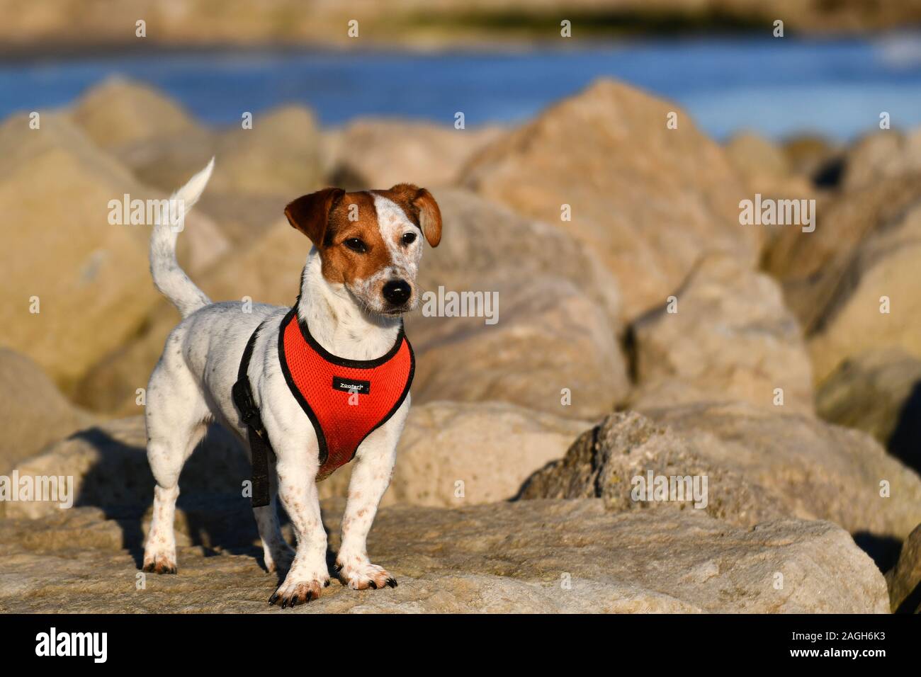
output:
[[[169,203],[181,204],[187,213],[213,169],[214,158]],[[280,353],[286,348],[280,341],[288,335],[282,325],[291,318],[291,336],[297,339],[300,326],[303,335],[312,338],[311,345],[332,364],[340,360],[342,364],[354,361],[359,367],[365,361],[374,364],[399,344],[402,315],[418,305],[415,277],[422,239],[432,247],[441,239],[441,213],[434,197],[406,183],[356,193],[327,188],[297,198],[286,206],[285,214],[312,245],[301,272],[297,303],[293,309],[252,304],[249,312],[240,302],[213,303],[192,283],[176,260],[179,228],[169,225],[166,207],[157,216],[150,270],[155,286],[180,310],[182,321],[169,333],[146,391],[147,459],[156,486],[143,564],[145,571],[176,573],[173,518],[179,477],[208,424],[217,421],[227,426],[251,452],[249,426],[231,392],[249,343],[251,359],[243,376],[248,377],[252,401],[274,452],[269,461],[269,504],[253,508],[253,514],[266,569],[279,573],[287,569],[269,600],[283,608],[319,598],[321,589],[329,585],[330,572],[316,484],[322,479],[318,473],[323,436],[306,414],[309,409],[298,402],[291,375],[281,364]],[[300,375],[305,378],[309,380]],[[344,397],[364,396],[363,385],[345,380],[344,386],[340,383]],[[301,387],[332,390],[333,386],[318,381]],[[321,396],[327,397],[324,393]],[[409,413],[408,383],[403,395],[354,452],[342,544],[335,559],[337,577],[352,589],[396,586],[390,572],[370,562],[366,541],[380,498],[391,482],[397,442]],[[279,529],[277,497],[294,527],[296,550]]]

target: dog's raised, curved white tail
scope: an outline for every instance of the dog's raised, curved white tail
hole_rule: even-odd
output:
[[[204,291],[195,286],[176,261],[176,239],[184,225],[184,218],[198,202],[215,168],[215,158],[195,174],[184,186],[161,204],[157,221],[150,236],[150,274],[154,285],[172,302],[186,318],[195,310],[211,303]]]

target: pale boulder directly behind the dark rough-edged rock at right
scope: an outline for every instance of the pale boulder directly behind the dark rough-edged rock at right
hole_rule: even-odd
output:
[[[659,405],[741,400],[776,411],[781,389],[783,411],[812,412],[809,356],[779,286],[725,254],[701,261],[673,302],[632,330],[637,405],[659,391]],[[677,400],[663,400],[663,385]]]

